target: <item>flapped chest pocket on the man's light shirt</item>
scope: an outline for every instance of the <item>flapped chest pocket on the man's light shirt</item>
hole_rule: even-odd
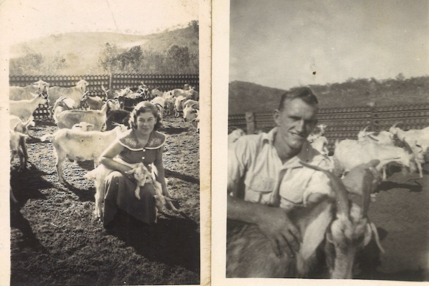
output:
[[[247,174],[244,180],[246,192],[244,200],[259,203],[269,203],[275,180],[268,177]]]

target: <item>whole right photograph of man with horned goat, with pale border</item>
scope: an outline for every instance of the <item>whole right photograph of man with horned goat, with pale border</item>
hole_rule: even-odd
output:
[[[428,8],[213,7],[229,10],[213,27],[229,56],[213,55],[213,132],[228,134],[212,151],[228,154],[213,167],[215,284],[429,281]]]

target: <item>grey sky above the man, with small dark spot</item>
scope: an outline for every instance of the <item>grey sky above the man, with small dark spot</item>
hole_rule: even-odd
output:
[[[428,3],[231,0],[229,80],[289,89],[429,75]]]

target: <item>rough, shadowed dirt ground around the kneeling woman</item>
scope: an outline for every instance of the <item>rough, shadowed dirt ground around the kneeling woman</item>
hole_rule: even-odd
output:
[[[199,134],[183,118],[164,122],[168,188],[188,218],[168,210],[147,226],[120,212],[109,233],[92,213],[94,184],[83,178],[93,162],[65,163],[61,185],[52,144],[27,141],[30,170],[11,171],[11,285],[200,283]],[[55,130],[37,122],[30,134]]]

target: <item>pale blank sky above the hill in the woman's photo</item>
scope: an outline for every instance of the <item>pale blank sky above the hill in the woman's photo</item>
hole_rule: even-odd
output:
[[[10,44],[65,32],[146,35],[198,20],[198,0],[0,0]],[[4,40],[4,38],[3,38]]]

